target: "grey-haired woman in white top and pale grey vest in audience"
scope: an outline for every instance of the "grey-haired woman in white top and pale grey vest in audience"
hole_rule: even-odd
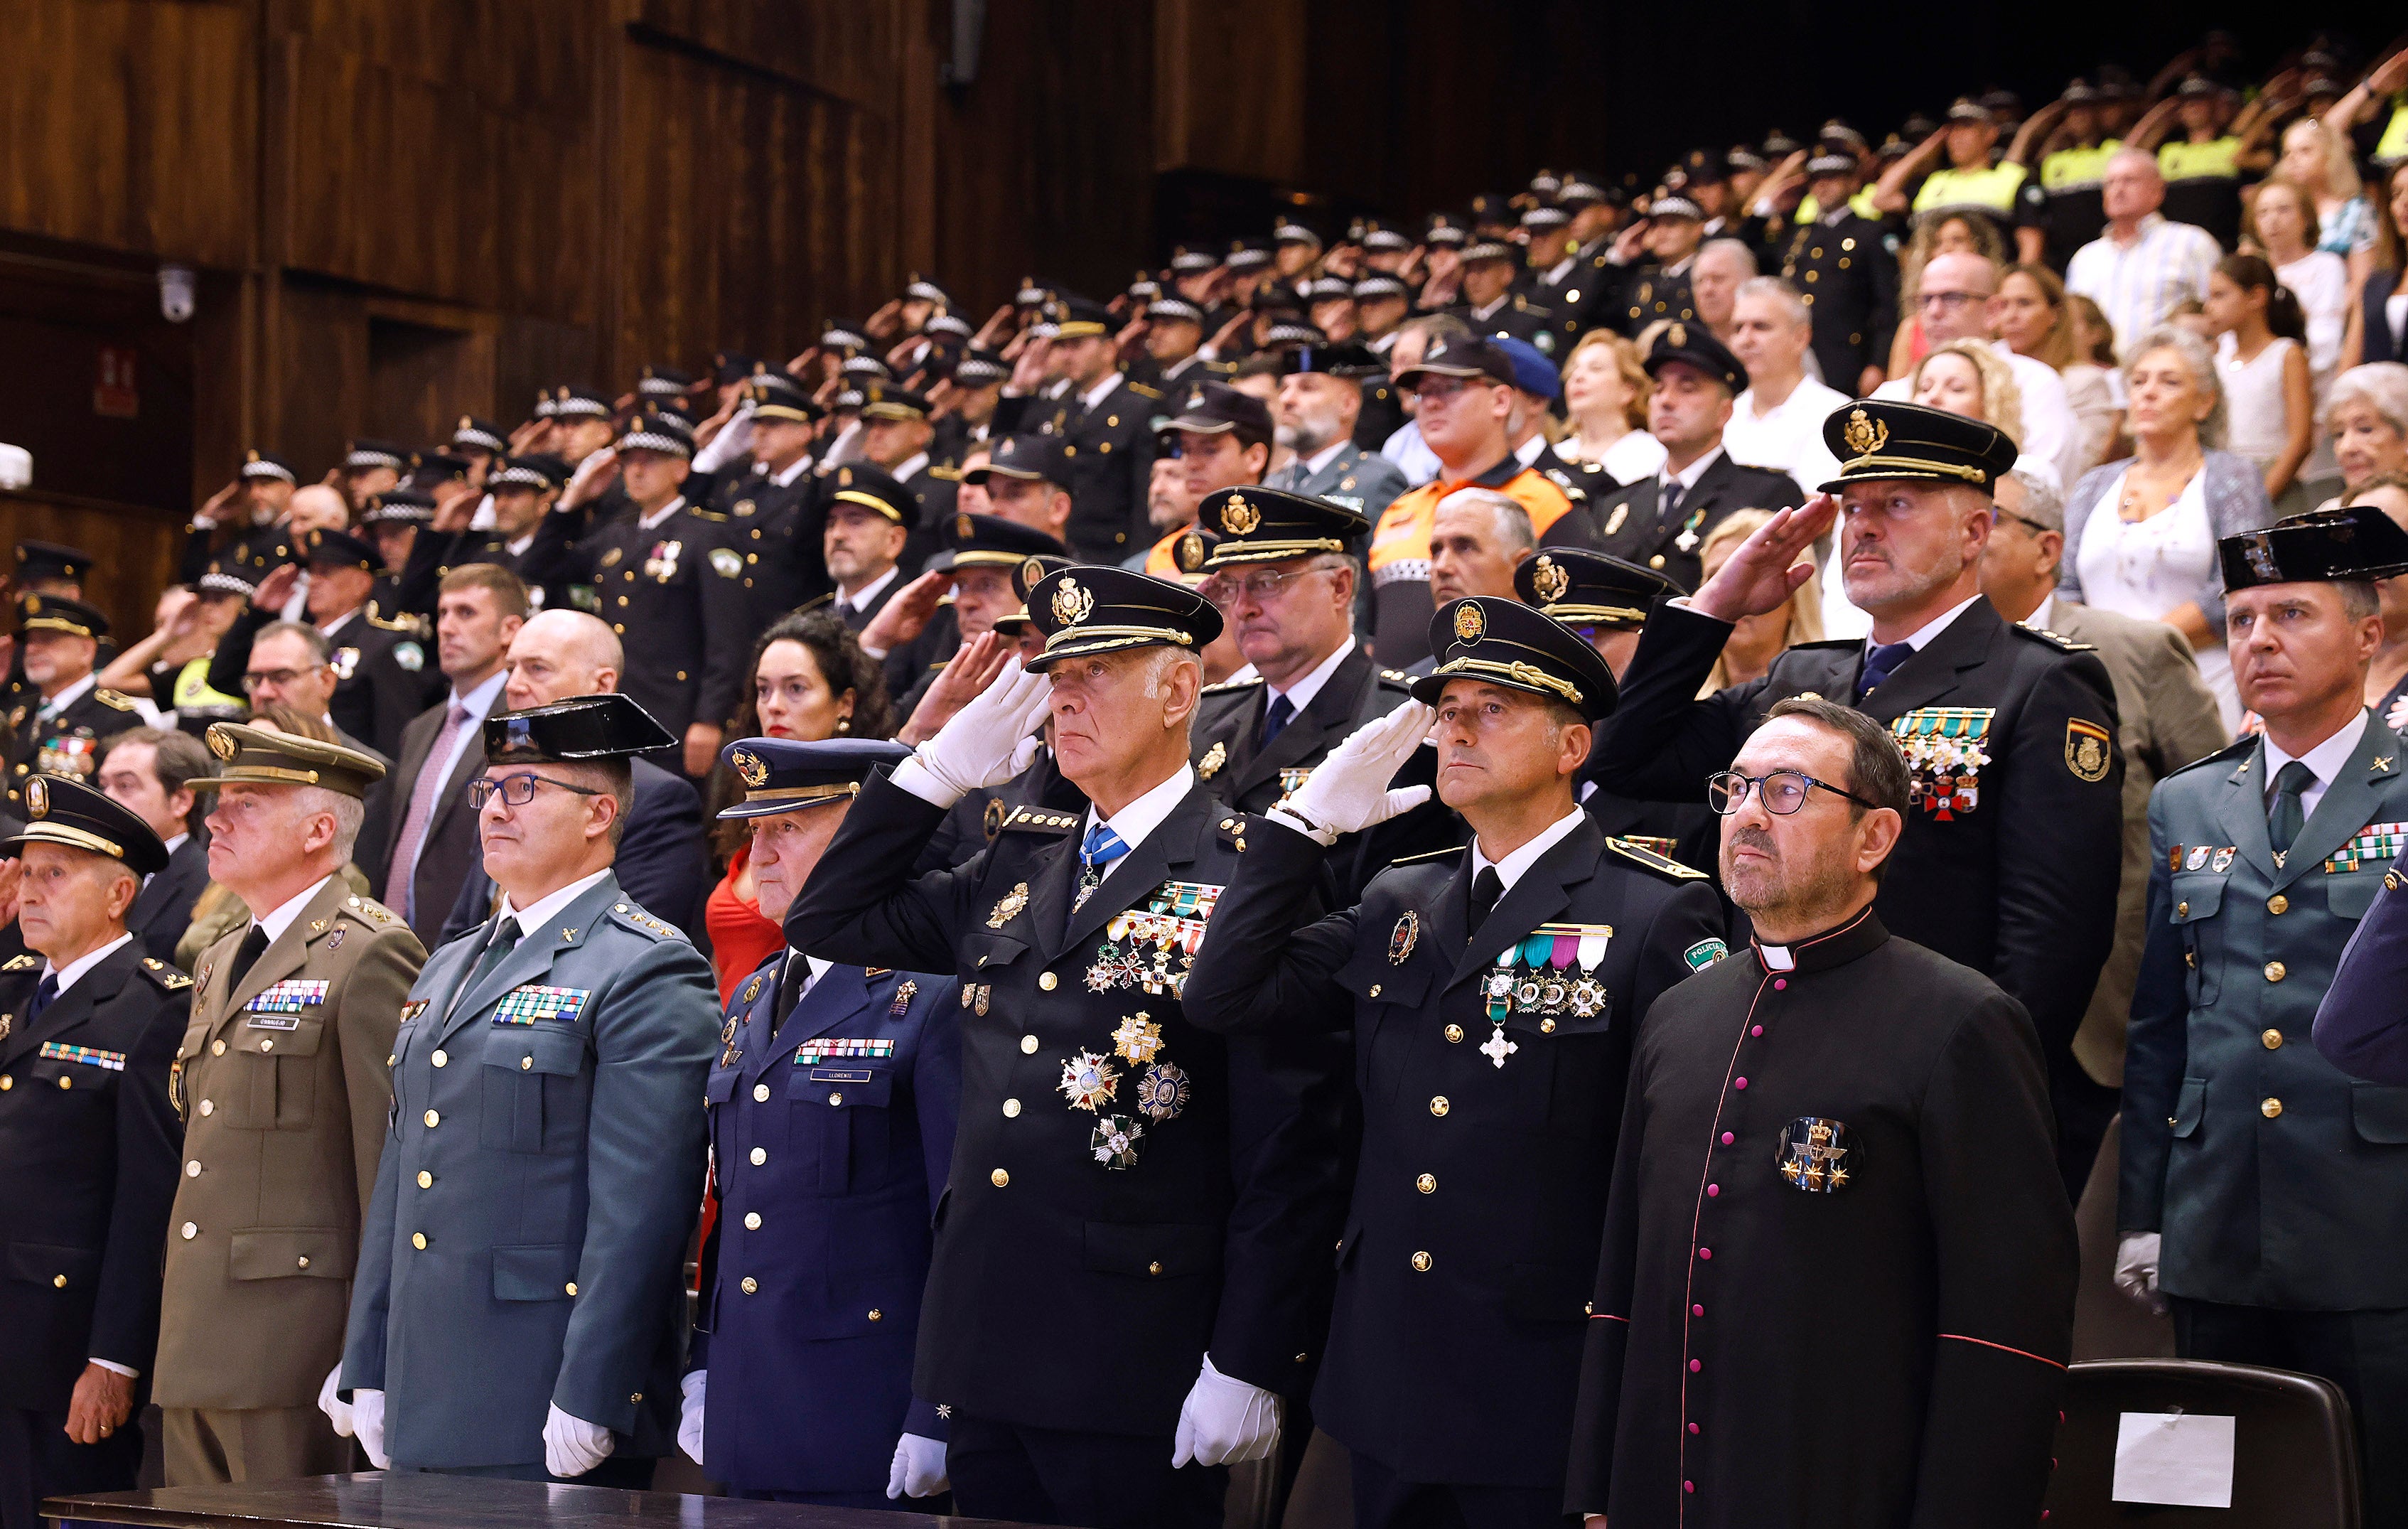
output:
[[[2124,366],[2133,455],[2093,467],[2066,496],[2066,600],[2165,621],[2191,640],[2225,727],[2239,693],[2225,650],[2220,537],[2273,523],[2266,479],[2223,448],[2225,390],[2206,340],[2177,325],[2141,335]]]

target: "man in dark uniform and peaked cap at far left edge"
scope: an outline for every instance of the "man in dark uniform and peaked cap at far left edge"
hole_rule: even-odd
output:
[[[53,1493],[130,1490],[176,1194],[166,1076],[193,987],[125,932],[166,845],[72,780],[24,785],[26,956],[0,966],[0,1524]]]

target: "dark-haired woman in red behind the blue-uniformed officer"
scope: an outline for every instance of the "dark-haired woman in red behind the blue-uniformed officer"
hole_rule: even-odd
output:
[[[787,612],[754,643],[751,689],[727,725],[727,737],[790,737],[821,742],[831,737],[891,737],[893,708],[886,701],[886,677],[877,660],[862,653],[838,616],[809,609]],[[744,783],[727,766],[713,771],[710,814],[744,799]],[[718,852],[727,874],[703,903],[703,927],[710,932],[710,966],[720,978],[720,1002],[751,970],[785,944],[775,922],[761,915],[751,884],[751,833],[742,821],[718,823]]]

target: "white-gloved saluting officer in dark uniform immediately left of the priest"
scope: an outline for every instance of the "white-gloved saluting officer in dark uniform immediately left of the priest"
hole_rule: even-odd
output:
[[[1430,648],[1416,703],[1252,828],[1187,1004],[1214,1031],[1351,1016],[1363,1161],[1312,1406],[1353,1450],[1356,1524],[1560,1524],[1630,1040],[1722,958],[1722,905],[1575,802],[1613,710],[1589,643],[1469,597]],[[1438,797],[1474,843],[1293,932],[1324,848],[1428,795],[1389,778],[1433,720]]]

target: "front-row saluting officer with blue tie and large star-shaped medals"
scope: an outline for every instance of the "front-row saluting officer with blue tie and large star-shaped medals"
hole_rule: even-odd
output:
[[[831,961],[958,970],[963,1098],[915,1392],[951,1406],[956,1510],[1038,1524],[1221,1524],[1223,1462],[1269,1454],[1320,1356],[1341,1206],[1320,1038],[1223,1040],[1180,987],[1250,833],[1197,783],[1211,604],[1120,568],[1028,590],[1045,633],[893,775],[862,787],[787,913]],[[1052,718],[1081,814],[1016,809],[910,876],[963,795]],[[1197,1466],[1197,1469],[1182,1469]]]

